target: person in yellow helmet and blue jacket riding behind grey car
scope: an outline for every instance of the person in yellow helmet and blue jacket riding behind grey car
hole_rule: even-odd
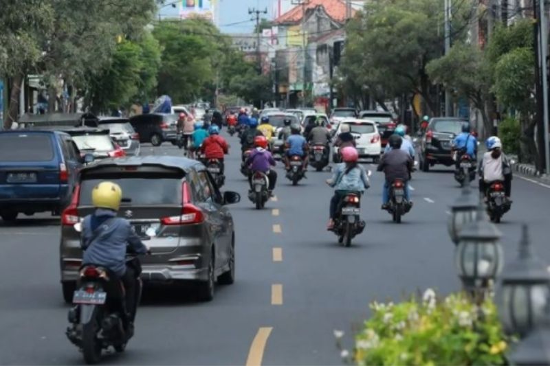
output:
[[[91,191],[95,211],[84,218],[80,247],[83,249],[83,265],[93,264],[109,269],[124,284],[125,312],[122,320],[129,329],[135,319],[137,307],[137,258],[126,264],[126,247],[137,254],[148,252],[133,231],[130,222],[117,217],[122,201],[122,190],[116,183],[103,181]]]

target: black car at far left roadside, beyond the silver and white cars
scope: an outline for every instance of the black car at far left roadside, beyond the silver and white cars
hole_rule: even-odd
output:
[[[140,142],[151,142],[153,146],[160,146],[163,141],[175,143],[178,117],[178,115],[164,113],[135,115],[130,117],[130,124],[140,135]]]

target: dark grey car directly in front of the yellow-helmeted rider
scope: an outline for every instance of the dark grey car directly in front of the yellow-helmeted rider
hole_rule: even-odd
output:
[[[108,159],[84,168],[71,204],[62,215],[61,284],[72,300],[82,263],[74,224],[91,214],[91,190],[109,179],[122,188],[118,216],[128,219],[151,249],[142,258],[142,279],[150,284],[194,282],[199,298],[214,296],[214,282],[234,282],[235,233],[227,205],[241,197],[221,194],[208,170],[184,157]]]

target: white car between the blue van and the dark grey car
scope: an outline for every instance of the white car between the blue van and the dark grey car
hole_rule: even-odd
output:
[[[126,152],[111,139],[109,130],[99,128],[73,128],[63,132],[69,134],[78,150],[80,156],[86,154],[94,156],[94,159],[105,159],[108,157],[125,157]]]

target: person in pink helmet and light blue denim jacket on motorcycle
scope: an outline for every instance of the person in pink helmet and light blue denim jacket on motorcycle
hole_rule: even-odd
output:
[[[334,167],[331,179],[327,179],[327,184],[334,187],[334,195],[331,198],[330,218],[327,224],[327,230],[334,228],[334,218],[336,218],[336,209],[342,195],[347,192],[364,192],[370,187],[369,176],[358,163],[358,151],[353,146],[347,146],[340,151],[343,163]]]

